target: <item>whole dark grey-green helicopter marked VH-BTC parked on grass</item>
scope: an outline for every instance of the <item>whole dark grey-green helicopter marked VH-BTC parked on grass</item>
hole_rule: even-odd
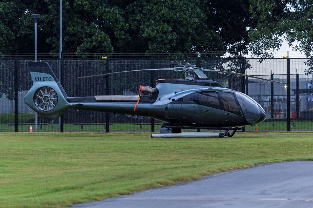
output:
[[[38,116],[58,118],[67,109],[94,110],[133,116],[156,118],[163,124],[160,134],[151,137],[232,137],[241,126],[265,120],[264,109],[244,93],[225,88],[208,79],[204,71],[247,76],[235,72],[203,69],[186,64],[174,68],[141,69],[132,71],[172,70],[185,73],[185,79],[158,79],[156,86],[140,86],[141,95],[95,95],[68,97],[47,62],[28,62],[33,85],[24,102]],[[112,72],[80,78],[126,73]],[[286,84],[286,83],[283,83]],[[148,95],[142,95],[143,93]],[[181,133],[181,129],[209,129],[218,133]]]

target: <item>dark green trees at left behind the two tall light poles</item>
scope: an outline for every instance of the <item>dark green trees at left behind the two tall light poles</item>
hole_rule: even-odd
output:
[[[0,51],[33,51],[31,14],[40,14],[38,51],[58,51],[59,0],[0,2]],[[113,51],[128,40],[124,11],[101,0],[63,3],[63,51]]]

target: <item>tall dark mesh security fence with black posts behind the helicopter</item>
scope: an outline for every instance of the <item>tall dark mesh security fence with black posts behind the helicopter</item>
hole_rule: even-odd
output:
[[[288,61],[289,60],[289,61]],[[232,71],[287,83],[271,83],[254,78],[205,72],[209,79],[223,86],[241,91],[256,100],[265,110],[267,119],[258,126],[246,126],[246,131],[311,131],[313,130],[313,77],[306,74],[308,59],[247,59],[247,58],[64,58],[42,60],[48,62],[56,75],[61,63],[62,85],[68,96],[133,95],[139,86],[155,86],[161,78],[184,78],[173,71],[142,71],[80,79],[101,73],[149,68],[173,68],[194,64],[207,69]],[[288,73],[289,72],[289,73]],[[58,77],[58,76],[57,76]],[[0,131],[29,131],[35,129],[35,114],[23,102],[32,86],[26,60],[0,60]],[[288,96],[288,91],[290,96]],[[138,132],[158,131],[162,121],[147,117],[70,109],[64,114],[65,132]],[[59,120],[38,118],[38,132],[59,132]]]

